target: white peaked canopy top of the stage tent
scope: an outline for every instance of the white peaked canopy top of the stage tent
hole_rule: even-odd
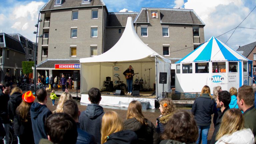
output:
[[[154,56],[171,63],[141,41],[134,29],[132,18],[128,17],[121,38],[110,50],[95,57],[81,58],[80,63],[155,61]]]

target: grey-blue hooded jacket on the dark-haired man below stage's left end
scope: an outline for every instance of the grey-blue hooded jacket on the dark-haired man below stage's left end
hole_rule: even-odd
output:
[[[95,137],[97,144],[101,143],[101,120],[104,115],[103,108],[97,104],[88,104],[79,117],[80,128]]]

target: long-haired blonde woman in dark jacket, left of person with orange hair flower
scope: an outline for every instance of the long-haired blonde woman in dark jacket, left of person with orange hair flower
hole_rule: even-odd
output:
[[[154,124],[142,114],[140,102],[131,101],[128,106],[124,130],[132,130],[137,134],[139,144],[158,144],[159,135]]]

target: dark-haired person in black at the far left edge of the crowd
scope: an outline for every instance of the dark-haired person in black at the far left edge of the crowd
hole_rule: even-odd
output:
[[[10,94],[10,83],[6,82],[3,85],[3,91],[0,92],[0,118],[3,122],[3,126],[6,132],[4,136],[4,144],[9,144],[9,114],[8,114],[8,101]]]

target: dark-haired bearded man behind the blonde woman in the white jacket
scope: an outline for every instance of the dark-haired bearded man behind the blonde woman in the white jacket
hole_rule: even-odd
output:
[[[216,125],[214,128],[214,132],[212,134],[212,139],[211,139],[211,144],[214,144],[216,142],[215,138],[216,138],[216,134],[219,131],[220,128],[220,124],[221,124],[221,119],[222,116],[224,115],[224,113],[229,110],[229,103],[230,103],[231,97],[230,97],[230,93],[228,91],[221,91],[219,92],[218,96],[217,96],[217,108],[220,108],[220,110],[218,111],[218,118],[216,121]]]

